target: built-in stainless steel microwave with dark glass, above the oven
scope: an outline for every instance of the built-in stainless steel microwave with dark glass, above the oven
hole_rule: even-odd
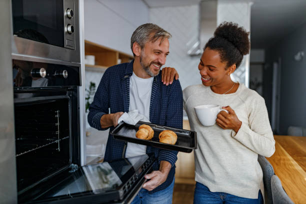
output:
[[[12,53],[80,62],[78,0],[12,0]]]

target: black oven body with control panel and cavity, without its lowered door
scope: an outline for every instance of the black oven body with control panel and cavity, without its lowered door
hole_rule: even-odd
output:
[[[80,66],[43,61],[12,60],[18,194],[79,163]]]

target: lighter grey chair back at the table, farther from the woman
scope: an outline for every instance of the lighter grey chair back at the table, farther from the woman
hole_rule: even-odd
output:
[[[284,191],[277,175],[271,177],[271,189],[273,203],[277,204],[294,204],[287,193]]]

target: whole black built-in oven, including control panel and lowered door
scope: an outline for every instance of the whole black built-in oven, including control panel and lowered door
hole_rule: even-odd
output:
[[[80,166],[79,64],[13,59],[12,69],[18,203],[129,203],[155,157]]]

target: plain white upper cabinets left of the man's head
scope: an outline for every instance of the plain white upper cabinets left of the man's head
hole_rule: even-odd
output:
[[[148,19],[142,0],[84,0],[85,39],[128,54],[133,31]]]

